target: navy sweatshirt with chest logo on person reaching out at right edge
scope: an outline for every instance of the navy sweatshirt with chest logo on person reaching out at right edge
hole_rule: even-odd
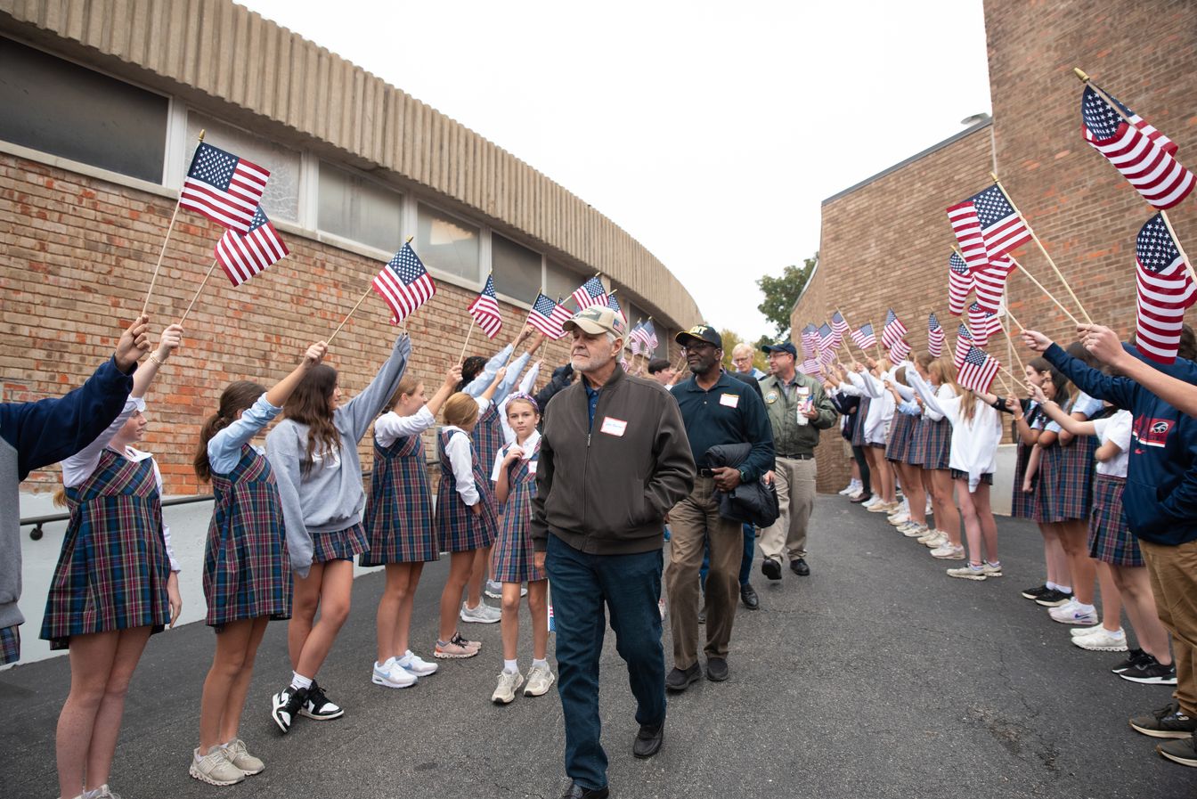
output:
[[[1138,357],[1134,347],[1128,352]],[[1131,532],[1146,541],[1177,546],[1197,539],[1197,420],[1129,377],[1111,377],[1051,345],[1044,357],[1089,397],[1135,417],[1123,509]],[[1152,363],[1152,362],[1148,362]],[[1177,358],[1153,367],[1197,385],[1197,364]]]

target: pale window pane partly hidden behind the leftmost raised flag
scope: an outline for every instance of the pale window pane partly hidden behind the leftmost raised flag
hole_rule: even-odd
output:
[[[187,163],[192,163],[192,151],[195,147],[200,131],[205,131],[203,140],[213,147],[220,147],[238,158],[251,161],[263,169],[271,170],[262,194],[262,208],[272,219],[299,219],[299,152],[274,144],[261,137],[247,133],[231,125],[218,122],[211,116],[195,111],[187,114]]]

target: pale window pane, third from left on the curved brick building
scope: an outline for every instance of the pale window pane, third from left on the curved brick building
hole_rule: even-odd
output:
[[[402,247],[399,192],[321,162],[318,194],[316,226],[321,230],[388,253]]]

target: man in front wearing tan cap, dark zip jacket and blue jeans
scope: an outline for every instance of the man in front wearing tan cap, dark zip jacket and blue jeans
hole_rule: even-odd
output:
[[[607,795],[598,739],[598,658],[609,609],[615,646],[636,696],[637,757],[664,736],[661,549],[664,516],[694,483],[678,404],[655,381],[627,375],[626,322],[610,308],[578,311],[570,359],[581,380],[545,408],[531,539],[553,585],[558,692],[565,716],[564,797]]]

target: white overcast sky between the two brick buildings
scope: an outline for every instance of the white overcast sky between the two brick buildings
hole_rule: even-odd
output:
[[[825,198],[990,110],[982,0],[241,1],[581,196],[748,340]]]

